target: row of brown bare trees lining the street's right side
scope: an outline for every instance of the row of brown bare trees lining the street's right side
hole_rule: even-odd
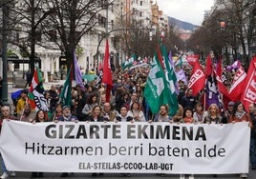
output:
[[[224,27],[221,28],[221,22]],[[251,0],[219,1],[218,8],[203,22],[187,42],[201,54],[209,50],[224,53],[225,63],[241,58],[245,67],[256,40],[256,3]],[[229,52],[231,50],[231,53]]]

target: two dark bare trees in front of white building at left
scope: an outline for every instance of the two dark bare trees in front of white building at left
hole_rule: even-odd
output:
[[[68,67],[75,47],[86,33],[96,31],[97,14],[113,5],[102,0],[2,0],[7,10],[8,42],[31,60],[33,73],[35,48],[41,46],[65,53]],[[3,8],[4,7],[4,8]],[[96,34],[96,33],[95,33]]]

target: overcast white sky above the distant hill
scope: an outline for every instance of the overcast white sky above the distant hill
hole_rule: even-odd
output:
[[[211,10],[214,4],[214,0],[157,0],[157,2],[164,14],[194,25],[202,24],[204,10]]]

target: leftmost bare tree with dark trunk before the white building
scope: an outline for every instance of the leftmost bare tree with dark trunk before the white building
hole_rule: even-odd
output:
[[[11,45],[19,48],[20,53],[30,59],[31,75],[36,58],[35,47],[41,46],[41,23],[52,13],[44,8],[46,0],[13,1],[11,22],[13,31]]]

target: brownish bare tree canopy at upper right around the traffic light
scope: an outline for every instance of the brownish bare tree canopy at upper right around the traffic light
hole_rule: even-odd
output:
[[[233,58],[236,60],[239,57],[238,49],[242,48],[242,60],[245,66],[248,65],[246,55],[246,44],[250,45],[251,35],[253,31],[252,18],[248,15],[251,12],[251,7],[255,4],[251,0],[229,0],[220,1],[223,9],[215,10],[213,14],[204,22],[203,28],[197,30],[194,36],[190,39],[201,38],[198,40],[202,45],[210,47],[212,50],[217,50],[218,53],[225,50],[225,57],[229,61],[227,49],[232,49]],[[220,23],[224,22],[224,29],[221,30]],[[203,34],[203,35],[202,35]],[[204,42],[203,42],[204,41]],[[195,46],[194,46],[195,47]],[[249,48],[247,48],[249,49]]]

